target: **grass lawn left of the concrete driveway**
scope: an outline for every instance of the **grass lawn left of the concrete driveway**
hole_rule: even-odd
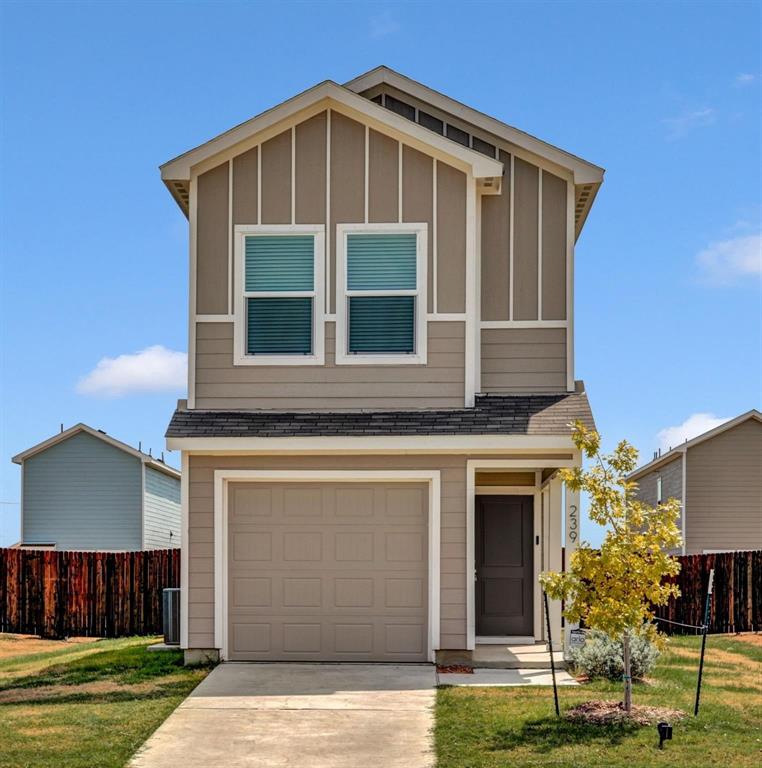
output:
[[[2,636],[0,636],[2,637]],[[0,658],[0,768],[121,768],[208,674],[150,638]]]

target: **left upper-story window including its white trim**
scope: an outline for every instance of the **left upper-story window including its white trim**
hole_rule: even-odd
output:
[[[237,364],[323,363],[323,249],[322,227],[236,227]]]

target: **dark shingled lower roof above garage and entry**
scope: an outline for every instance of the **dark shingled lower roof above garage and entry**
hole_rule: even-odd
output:
[[[202,411],[178,408],[168,438],[371,435],[566,435],[594,427],[584,391],[477,395],[473,408],[418,411]]]

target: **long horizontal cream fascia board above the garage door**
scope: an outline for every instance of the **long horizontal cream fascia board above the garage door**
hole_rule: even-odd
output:
[[[571,437],[544,435],[380,435],[369,437],[169,437],[189,453],[544,453],[575,450]]]

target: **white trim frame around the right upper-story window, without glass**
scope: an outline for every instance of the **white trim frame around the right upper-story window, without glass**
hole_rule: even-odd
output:
[[[350,355],[347,353],[348,323],[347,296],[354,295],[346,289],[347,235],[361,232],[367,235],[414,233],[416,239],[415,291],[381,291],[378,295],[415,295],[415,354],[413,355]],[[337,224],[336,225],[336,364],[337,365],[426,365],[427,359],[427,280],[428,280],[428,224]],[[366,291],[358,295],[369,294]]]

